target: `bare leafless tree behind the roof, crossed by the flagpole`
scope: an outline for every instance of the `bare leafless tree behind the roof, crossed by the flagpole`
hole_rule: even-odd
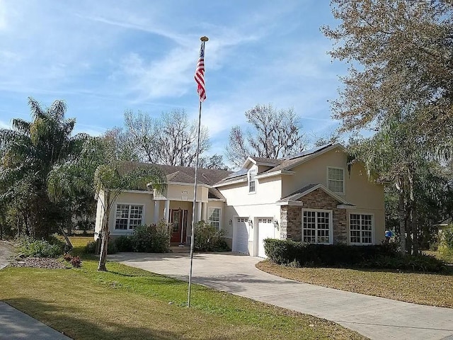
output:
[[[141,162],[194,166],[197,122],[184,110],[175,109],[151,118],[148,113],[125,112],[125,130],[116,135],[120,154],[129,150]],[[200,131],[200,154],[210,148],[207,128]]]

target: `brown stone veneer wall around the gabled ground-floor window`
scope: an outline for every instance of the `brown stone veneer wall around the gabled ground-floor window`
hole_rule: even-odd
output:
[[[322,189],[316,189],[299,199],[303,206],[282,205],[280,208],[280,239],[302,240],[302,208],[332,210],[333,243],[348,243],[346,210],[338,209],[340,204]]]

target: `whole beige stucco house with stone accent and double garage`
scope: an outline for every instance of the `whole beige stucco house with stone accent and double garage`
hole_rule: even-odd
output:
[[[161,166],[163,193],[125,191],[110,216],[110,234],[161,219],[171,223],[171,242],[189,243],[194,169]],[[384,186],[360,163],[348,167],[340,144],[282,159],[248,157],[236,172],[198,169],[195,222],[225,230],[233,251],[265,257],[263,239],[320,244],[379,244],[384,239]],[[98,204],[96,232],[101,229]]]

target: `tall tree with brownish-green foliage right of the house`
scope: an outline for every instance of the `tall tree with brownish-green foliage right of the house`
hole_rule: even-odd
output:
[[[395,183],[401,249],[412,232],[416,253],[421,171],[433,155],[452,154],[452,1],[331,4],[340,24],[323,32],[336,44],[331,55],[349,64],[333,117],[343,131],[377,131],[361,157]]]

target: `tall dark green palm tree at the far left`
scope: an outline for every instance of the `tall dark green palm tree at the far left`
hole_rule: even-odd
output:
[[[13,120],[0,130],[0,200],[14,204],[33,237],[47,237],[64,220],[64,207],[47,196],[47,175],[60,162],[76,157],[82,135],[71,136],[75,120],[64,118],[64,101],[42,108],[29,98],[33,120]]]

